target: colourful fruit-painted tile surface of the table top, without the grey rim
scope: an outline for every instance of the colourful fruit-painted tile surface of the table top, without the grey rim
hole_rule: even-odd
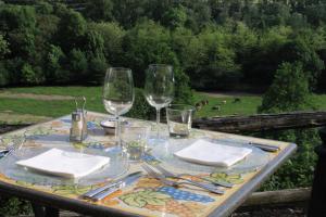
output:
[[[72,143],[75,149],[98,149],[105,151],[115,151],[113,144],[113,137],[105,136],[100,127],[100,122],[108,117],[106,115],[99,113],[88,112],[88,129],[90,137],[83,143]],[[150,125],[149,122],[128,119],[133,125]],[[43,142],[51,141],[51,138],[55,140],[51,141],[60,145],[62,142],[68,142],[71,120],[70,116],[64,116],[59,119],[54,119],[49,123],[45,123],[37,126],[32,126],[22,130],[5,133],[0,136],[0,148],[10,145],[22,145],[25,148],[38,148],[42,146]],[[227,135],[221,132],[193,130],[191,138],[199,137],[209,138],[233,138],[233,139],[249,139],[247,137],[240,137],[235,135]],[[260,139],[250,138],[250,140],[260,141]],[[266,142],[266,140],[264,140]],[[271,144],[277,144],[281,149],[285,149],[288,143],[268,141]],[[271,154],[271,159],[276,154]],[[153,164],[160,164],[151,155],[145,156],[146,161]],[[139,165],[131,165],[130,171],[138,170]],[[187,173],[187,171],[185,171]],[[243,183],[249,181],[259,170],[249,171],[246,174],[202,174],[201,176],[216,180],[235,183],[233,189],[226,190],[224,195],[215,195],[201,190],[190,188],[173,188],[163,186],[160,181],[145,176],[139,179],[131,187],[117,191],[110,196],[105,197],[101,202],[97,202],[97,205],[106,206],[116,209],[123,209],[125,212],[140,214],[143,216],[179,216],[179,217],[196,217],[206,216],[220,206],[226,199],[235,193]],[[28,183],[20,180],[12,180],[4,175],[0,174],[0,180],[3,182],[21,186],[35,191],[42,191],[49,194],[55,194],[71,200],[80,200],[78,195],[87,192],[90,189],[97,188],[103,183],[95,186],[38,186],[36,183]],[[88,203],[95,203],[88,201]]]

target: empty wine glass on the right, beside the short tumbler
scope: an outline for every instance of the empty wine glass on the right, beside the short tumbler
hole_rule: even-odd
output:
[[[156,108],[156,128],[159,139],[160,111],[173,100],[173,67],[165,64],[151,64],[146,71],[145,97],[148,103]]]

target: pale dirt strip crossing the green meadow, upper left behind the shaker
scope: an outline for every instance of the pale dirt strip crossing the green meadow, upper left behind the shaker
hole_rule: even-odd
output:
[[[0,92],[0,98],[10,98],[10,99],[32,99],[32,100],[42,100],[42,101],[52,101],[52,100],[73,100],[74,97],[71,95],[47,95],[47,94],[34,94],[34,93],[13,93],[13,92]]]

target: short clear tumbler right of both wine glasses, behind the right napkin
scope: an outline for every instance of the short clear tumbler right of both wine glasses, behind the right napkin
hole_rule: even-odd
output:
[[[171,104],[166,107],[166,119],[171,137],[185,138],[191,130],[195,107],[186,104]]]

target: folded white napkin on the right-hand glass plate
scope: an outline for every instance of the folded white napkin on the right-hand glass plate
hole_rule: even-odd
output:
[[[212,143],[200,139],[175,152],[174,155],[187,162],[228,167],[243,159],[250,153],[251,149]]]

